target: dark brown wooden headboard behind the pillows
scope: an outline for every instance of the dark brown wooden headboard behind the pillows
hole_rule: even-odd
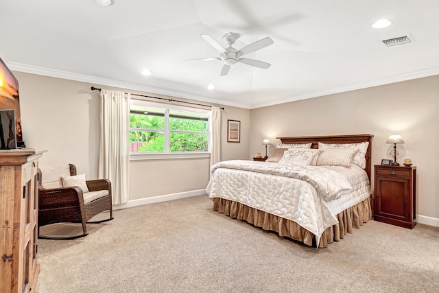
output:
[[[372,170],[372,134],[352,134],[352,135],[329,135],[321,137],[276,137],[281,139],[282,143],[312,143],[311,148],[318,148],[318,142],[322,143],[362,143],[369,142],[366,152],[366,168],[364,170],[368,174],[369,181]]]

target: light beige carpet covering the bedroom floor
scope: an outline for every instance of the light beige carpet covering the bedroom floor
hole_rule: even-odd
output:
[[[317,249],[212,206],[148,204],[86,237],[39,239],[36,292],[439,292],[439,228],[369,221]]]

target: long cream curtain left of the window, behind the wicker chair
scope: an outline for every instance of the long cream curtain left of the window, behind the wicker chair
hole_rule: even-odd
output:
[[[99,178],[111,181],[112,203],[128,202],[130,192],[130,94],[101,91]]]

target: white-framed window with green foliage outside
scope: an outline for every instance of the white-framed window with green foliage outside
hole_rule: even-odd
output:
[[[132,100],[130,154],[200,154],[210,150],[210,111]]]

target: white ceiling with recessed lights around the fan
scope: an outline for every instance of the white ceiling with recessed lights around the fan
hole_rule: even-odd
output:
[[[439,74],[438,0],[113,1],[0,0],[0,57],[16,71],[244,108]],[[382,18],[393,25],[373,29]],[[185,60],[218,57],[200,34],[226,46],[228,32],[241,34],[236,49],[270,36],[246,57],[272,66],[219,76],[217,60]],[[412,43],[381,42],[399,36]]]

